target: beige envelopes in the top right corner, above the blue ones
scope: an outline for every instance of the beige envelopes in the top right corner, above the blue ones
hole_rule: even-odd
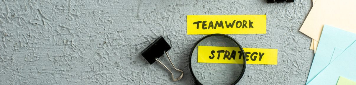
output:
[[[300,32],[319,41],[324,24],[356,33],[356,0],[318,0],[310,10]],[[314,42],[315,43],[315,42]],[[314,47],[316,45],[314,44]]]

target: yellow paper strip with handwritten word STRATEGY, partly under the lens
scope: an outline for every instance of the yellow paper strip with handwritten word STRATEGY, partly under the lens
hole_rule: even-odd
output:
[[[277,49],[243,48],[246,64],[277,65]],[[243,57],[239,47],[198,47],[198,63],[242,64]]]

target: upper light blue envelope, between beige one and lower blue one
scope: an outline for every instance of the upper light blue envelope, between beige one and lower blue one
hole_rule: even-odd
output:
[[[310,68],[307,83],[329,65],[335,48],[346,49],[356,40],[356,34],[341,30],[339,28],[324,25],[318,44],[318,50],[314,55],[312,67]],[[334,54],[339,55],[339,54]],[[337,56],[336,56],[337,57]]]

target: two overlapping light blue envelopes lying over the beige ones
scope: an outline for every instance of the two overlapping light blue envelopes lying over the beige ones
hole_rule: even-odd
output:
[[[356,80],[356,34],[324,25],[307,85],[335,85],[340,76]]]

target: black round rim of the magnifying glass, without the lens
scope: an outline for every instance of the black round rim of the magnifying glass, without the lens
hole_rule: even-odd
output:
[[[237,78],[237,79],[234,81],[234,83],[232,83],[231,85],[237,84],[237,82],[240,81],[240,79],[242,78],[242,76],[243,76],[244,73],[245,73],[245,68],[246,68],[246,56],[245,56],[245,51],[244,51],[244,49],[242,49],[242,47],[241,47],[241,45],[239,44],[239,42],[237,42],[234,38],[232,38],[232,37],[230,37],[230,36],[228,36],[228,35],[226,35],[226,34],[210,34],[210,35],[207,35],[207,36],[205,36],[205,37],[199,39],[199,41],[197,41],[197,42],[194,44],[194,46],[193,46],[193,48],[192,48],[192,51],[190,51],[190,54],[189,54],[189,69],[190,69],[190,73],[192,73],[192,76],[193,76],[193,78],[194,78],[194,80],[195,80],[195,85],[203,85],[203,84],[201,84],[201,83],[197,80],[197,78],[195,78],[195,75],[194,75],[194,73],[193,73],[193,70],[192,70],[192,54],[193,54],[194,48],[197,47],[197,45],[198,45],[201,41],[203,41],[205,38],[208,38],[208,37],[211,37],[211,36],[224,36],[224,37],[227,37],[227,38],[231,39],[232,41],[234,41],[234,42],[237,44],[237,46],[240,47],[240,50],[241,50],[241,53],[242,53],[242,56],[243,56],[243,59],[244,59],[244,67],[242,67],[242,71],[241,71],[241,74],[240,74],[239,78]]]

